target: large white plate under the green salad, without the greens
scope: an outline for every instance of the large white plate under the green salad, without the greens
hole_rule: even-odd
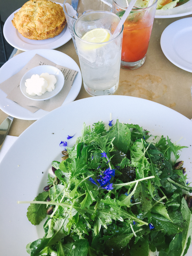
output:
[[[71,102],[29,126],[0,163],[0,248],[3,256],[27,256],[26,245],[43,237],[43,223],[33,226],[26,216],[29,205],[17,204],[17,201],[33,200],[43,191],[51,162],[61,161],[61,140],[76,133],[68,141],[72,146],[81,135],[83,122],[91,125],[101,119],[108,126],[110,113],[113,123],[118,118],[120,122],[138,124],[153,135],[168,135],[172,142],[188,146],[183,148],[180,159],[184,161],[189,182],[192,181],[192,122],[182,114],[153,101],[120,95]],[[190,245],[186,256],[191,253]]]

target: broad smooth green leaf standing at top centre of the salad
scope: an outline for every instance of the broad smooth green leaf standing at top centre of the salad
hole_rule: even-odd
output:
[[[113,144],[118,150],[126,154],[131,143],[131,131],[125,124],[120,123],[118,119],[114,125],[114,129],[108,133],[109,140],[114,137]]]

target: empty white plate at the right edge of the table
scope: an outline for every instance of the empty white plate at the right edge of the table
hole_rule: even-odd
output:
[[[174,65],[192,72],[192,17],[166,27],[161,35],[161,49]]]

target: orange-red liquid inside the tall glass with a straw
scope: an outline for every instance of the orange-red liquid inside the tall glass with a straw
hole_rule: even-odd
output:
[[[121,60],[135,62],[141,60],[148,49],[153,24],[138,21],[125,21],[123,29],[123,44]]]

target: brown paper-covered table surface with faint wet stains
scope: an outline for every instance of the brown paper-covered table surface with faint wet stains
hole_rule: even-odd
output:
[[[63,3],[62,0],[57,2]],[[172,108],[187,118],[192,118],[191,84],[192,73],[176,67],[163,54],[160,46],[160,38],[163,30],[178,19],[192,17],[192,15],[154,19],[150,43],[145,63],[135,70],[120,70],[119,88],[116,95],[128,95],[158,102]],[[69,55],[79,65],[72,39],[56,50]],[[18,50],[16,55],[22,51]],[[79,65],[80,67],[80,65]],[[76,100],[91,97],[84,87]],[[146,110],[147,111],[147,110]],[[8,115],[0,110],[0,124]],[[14,118],[8,135],[19,136],[34,121]]]

